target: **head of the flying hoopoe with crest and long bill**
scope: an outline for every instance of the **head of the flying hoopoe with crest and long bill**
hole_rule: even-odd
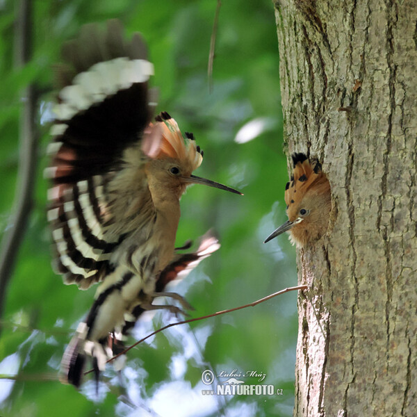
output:
[[[186,133],[183,138],[177,122],[166,112],[156,117],[156,123],[149,124],[142,141],[142,152],[149,156],[149,183],[173,190],[178,198],[190,184],[205,184],[242,195],[233,188],[193,175],[203,161],[204,152],[196,145],[193,133]]]

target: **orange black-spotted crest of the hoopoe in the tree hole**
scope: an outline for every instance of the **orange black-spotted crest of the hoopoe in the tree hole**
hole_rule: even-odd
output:
[[[316,161],[313,165],[305,154],[293,154],[294,171],[291,181],[286,183],[285,202],[288,210],[288,218],[297,217],[300,202],[314,184],[316,192],[320,191],[321,183],[327,185],[325,174],[322,173],[321,164]],[[325,187],[327,190],[327,186]],[[323,191],[324,188],[323,188]]]

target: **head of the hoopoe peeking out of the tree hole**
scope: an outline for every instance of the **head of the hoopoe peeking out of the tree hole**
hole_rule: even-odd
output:
[[[289,231],[293,243],[304,246],[317,240],[327,230],[332,208],[329,180],[304,154],[293,154],[294,171],[286,183],[285,202],[288,221],[272,232],[265,243],[284,231]]]

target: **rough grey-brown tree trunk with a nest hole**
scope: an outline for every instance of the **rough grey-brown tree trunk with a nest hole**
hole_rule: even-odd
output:
[[[417,413],[417,2],[276,0],[286,146],[332,185],[298,253],[294,416]]]

